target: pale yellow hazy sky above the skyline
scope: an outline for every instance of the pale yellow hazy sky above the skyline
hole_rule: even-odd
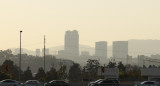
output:
[[[66,30],[78,30],[80,44],[160,39],[160,0],[0,0],[0,49],[35,50],[64,44]]]

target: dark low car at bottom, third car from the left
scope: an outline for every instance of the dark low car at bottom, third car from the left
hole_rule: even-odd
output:
[[[69,85],[63,80],[52,80],[48,83],[45,83],[44,86],[69,86]]]

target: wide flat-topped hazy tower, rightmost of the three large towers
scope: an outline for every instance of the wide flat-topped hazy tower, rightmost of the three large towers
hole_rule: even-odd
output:
[[[116,62],[121,61],[122,63],[127,64],[128,41],[114,41],[112,53]]]

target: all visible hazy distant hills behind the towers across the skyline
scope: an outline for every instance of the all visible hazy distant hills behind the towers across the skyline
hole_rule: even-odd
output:
[[[81,51],[89,51],[90,55],[95,54],[95,48],[88,45],[80,45],[79,49],[80,53]],[[13,54],[19,53],[19,48],[13,48],[11,50]],[[64,50],[64,46],[50,47],[49,53],[51,55],[57,55],[59,50]],[[112,57],[112,46],[108,46],[107,51],[108,57]],[[28,49],[22,49],[22,53],[26,53],[28,55],[36,54],[35,51]],[[152,54],[160,54],[160,40],[128,40],[128,53],[133,57],[137,57],[138,55],[150,56]]]

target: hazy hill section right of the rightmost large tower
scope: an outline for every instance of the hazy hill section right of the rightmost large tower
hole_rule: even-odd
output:
[[[160,54],[160,40],[129,40],[128,51],[129,55],[134,57],[137,55],[150,56],[152,54]]]

